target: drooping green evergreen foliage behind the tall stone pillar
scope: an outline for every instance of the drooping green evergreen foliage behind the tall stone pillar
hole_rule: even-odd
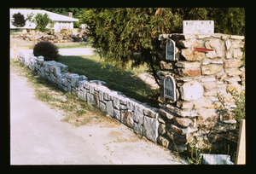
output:
[[[244,35],[243,8],[97,8],[86,10],[92,46],[116,68],[148,64],[157,79],[160,34],[182,32],[183,20],[214,20],[215,32]],[[157,81],[157,80],[156,80]]]

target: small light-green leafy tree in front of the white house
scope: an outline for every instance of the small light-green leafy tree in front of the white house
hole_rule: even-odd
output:
[[[28,14],[27,20],[29,20],[32,23],[36,24],[36,30],[39,30],[40,32],[47,31],[47,26],[52,27],[54,25],[54,21],[49,19],[48,14],[37,14],[34,18],[32,18],[34,14]]]

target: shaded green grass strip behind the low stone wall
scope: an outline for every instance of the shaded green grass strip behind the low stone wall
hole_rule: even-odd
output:
[[[139,102],[148,102],[153,107],[159,107],[158,90],[151,89],[141,78],[135,77],[134,73],[114,71],[112,65],[102,67],[96,55],[60,56],[58,61],[68,66],[69,73],[84,75],[88,80],[105,81],[110,90],[120,91]]]

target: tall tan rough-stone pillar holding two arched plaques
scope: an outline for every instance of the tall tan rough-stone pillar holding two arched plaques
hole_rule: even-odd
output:
[[[166,42],[176,45],[175,61],[166,61]],[[236,107],[227,90],[244,91],[245,73],[239,69],[242,61],[242,36],[214,33],[160,35],[160,112],[159,142],[165,147],[183,151],[188,142],[196,140],[199,147],[218,142],[214,133],[236,129],[231,112]],[[195,48],[213,49],[198,52]],[[163,82],[167,75],[175,79],[177,101],[164,98]],[[224,114],[218,114],[224,100]]]

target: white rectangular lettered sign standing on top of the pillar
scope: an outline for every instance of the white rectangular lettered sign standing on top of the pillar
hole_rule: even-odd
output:
[[[213,20],[183,20],[183,34],[212,34]]]

